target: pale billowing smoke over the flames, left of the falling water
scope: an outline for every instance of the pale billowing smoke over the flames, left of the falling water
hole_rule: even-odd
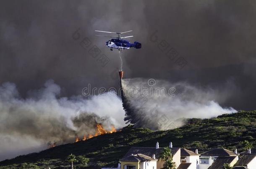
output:
[[[58,145],[94,134],[97,123],[106,129],[124,126],[121,100],[112,93],[89,99],[58,98],[59,93],[51,80],[26,99],[15,84],[0,86],[0,160],[45,149],[48,141]]]

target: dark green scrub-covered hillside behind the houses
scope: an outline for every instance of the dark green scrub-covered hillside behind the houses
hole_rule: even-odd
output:
[[[224,147],[238,152],[244,151],[241,141],[248,140],[256,146],[256,111],[240,111],[234,114],[223,114],[212,119],[187,119],[183,127],[152,131],[133,128],[131,125],[112,134],[104,134],[86,141],[56,146],[39,153],[18,156],[0,162],[0,169],[19,167],[21,163],[34,163],[40,168],[65,168],[68,154],[85,155],[90,159],[86,168],[117,166],[118,160],[131,146],[168,146],[172,141],[175,147],[199,149],[203,152],[215,147]],[[76,168],[81,168],[77,166]]]

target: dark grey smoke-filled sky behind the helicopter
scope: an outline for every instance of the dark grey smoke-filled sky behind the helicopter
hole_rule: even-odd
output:
[[[255,17],[254,1],[2,1],[0,83],[15,83],[23,97],[48,79],[61,87],[60,96],[79,95],[88,83],[118,88],[118,53],[94,30],[133,30],[127,35],[142,48],[123,53],[125,78],[230,86],[222,106],[256,109]],[[91,45],[83,48],[86,37]],[[106,66],[89,54],[94,45],[110,59]],[[179,58],[187,62],[181,69]]]

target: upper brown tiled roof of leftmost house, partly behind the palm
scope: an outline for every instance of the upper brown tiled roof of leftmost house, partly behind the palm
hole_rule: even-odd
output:
[[[129,151],[123,156],[123,158],[131,156],[132,154],[144,154],[146,156],[152,157],[155,154],[155,157],[158,159],[160,153],[164,148],[156,149],[155,147],[131,147]],[[174,155],[180,148],[172,148],[172,155]]]

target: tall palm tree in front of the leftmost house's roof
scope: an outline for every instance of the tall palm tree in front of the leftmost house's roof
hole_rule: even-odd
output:
[[[161,152],[159,159],[165,161],[164,167],[162,169],[175,169],[176,164],[172,161],[172,152],[169,147],[165,147]]]

